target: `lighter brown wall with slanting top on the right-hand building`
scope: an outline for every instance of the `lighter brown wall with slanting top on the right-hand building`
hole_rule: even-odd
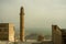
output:
[[[53,44],[62,44],[62,31],[57,25],[52,25]]]

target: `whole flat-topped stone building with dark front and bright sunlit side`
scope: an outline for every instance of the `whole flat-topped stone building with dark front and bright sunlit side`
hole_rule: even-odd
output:
[[[14,42],[14,26],[12,23],[0,23],[0,41]]]

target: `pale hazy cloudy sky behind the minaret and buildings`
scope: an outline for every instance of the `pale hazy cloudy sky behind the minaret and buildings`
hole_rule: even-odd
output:
[[[24,7],[25,28],[66,29],[66,0],[0,0],[0,22],[12,22],[19,29],[20,8]]]

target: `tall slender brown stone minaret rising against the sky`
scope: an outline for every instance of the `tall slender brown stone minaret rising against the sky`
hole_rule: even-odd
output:
[[[20,10],[20,41],[24,42],[24,9]]]

